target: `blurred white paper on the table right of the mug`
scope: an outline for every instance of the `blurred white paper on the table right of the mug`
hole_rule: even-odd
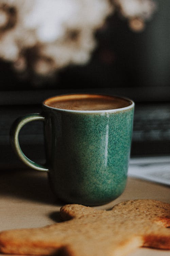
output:
[[[170,157],[132,158],[128,175],[170,186]]]

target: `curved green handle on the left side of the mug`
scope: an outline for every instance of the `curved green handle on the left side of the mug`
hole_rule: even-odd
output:
[[[17,156],[20,158],[20,160],[22,162],[24,162],[27,166],[29,166],[35,170],[48,172],[49,170],[44,165],[40,165],[39,163],[36,163],[36,162],[30,160],[28,157],[26,157],[24,155],[24,153],[22,152],[22,150],[20,148],[19,140],[18,140],[18,136],[19,136],[19,132],[20,132],[21,128],[25,124],[27,124],[31,121],[38,121],[38,120],[44,122],[45,117],[40,114],[29,114],[29,115],[19,117],[18,119],[16,119],[11,127],[11,130],[10,130],[10,141],[11,141],[11,145],[12,145],[15,153],[17,154]]]

